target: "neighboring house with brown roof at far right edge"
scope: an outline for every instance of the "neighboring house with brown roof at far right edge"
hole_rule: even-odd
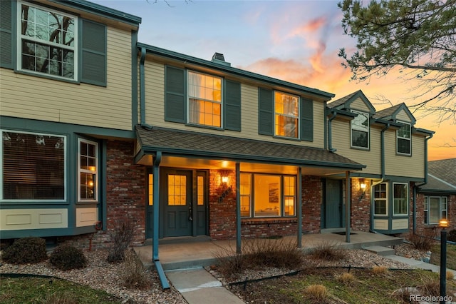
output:
[[[429,161],[427,183],[418,188],[418,229],[434,228],[440,219],[456,226],[456,158]]]

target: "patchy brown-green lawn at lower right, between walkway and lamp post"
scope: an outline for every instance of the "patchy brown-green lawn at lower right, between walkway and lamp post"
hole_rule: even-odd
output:
[[[410,303],[410,295],[439,295],[437,273],[426,270],[388,270],[375,274],[372,269],[308,268],[291,275],[256,283],[233,285],[232,290],[247,303]],[[323,285],[324,298],[306,292],[310,285]],[[401,288],[409,288],[400,293]],[[410,289],[416,288],[416,289]],[[454,281],[447,282],[447,292],[456,291]],[[412,302],[413,303],[413,302]]]

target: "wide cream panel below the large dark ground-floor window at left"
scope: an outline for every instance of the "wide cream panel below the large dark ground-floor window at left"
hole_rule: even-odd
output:
[[[1,230],[67,228],[68,209],[2,209]]]

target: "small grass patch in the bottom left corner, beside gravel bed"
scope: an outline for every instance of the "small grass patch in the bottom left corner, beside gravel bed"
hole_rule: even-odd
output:
[[[118,298],[58,278],[0,277],[0,303],[122,303]]]

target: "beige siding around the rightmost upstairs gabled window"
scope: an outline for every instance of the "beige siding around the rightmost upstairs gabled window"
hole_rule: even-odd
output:
[[[385,174],[390,176],[410,176],[424,178],[425,138],[412,136],[412,155],[396,155],[396,133],[385,132]]]

